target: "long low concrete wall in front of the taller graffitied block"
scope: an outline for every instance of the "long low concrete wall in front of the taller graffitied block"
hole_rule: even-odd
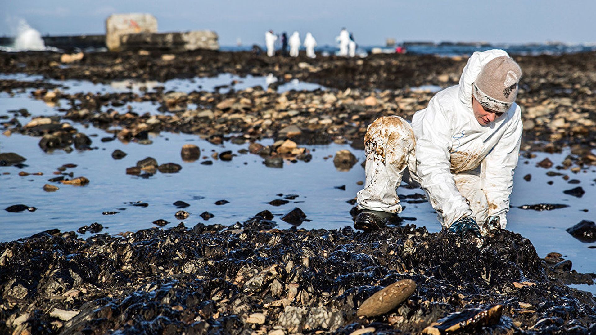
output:
[[[120,36],[119,49],[217,50],[219,43],[218,35],[209,30],[184,33],[140,33]]]

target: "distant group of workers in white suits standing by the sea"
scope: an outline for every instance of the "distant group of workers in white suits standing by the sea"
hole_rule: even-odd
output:
[[[265,32],[265,46],[267,48],[267,55],[273,57],[275,55],[275,41],[278,36],[275,35],[273,30]],[[339,44],[339,51],[337,55],[343,57],[355,57],[356,55],[356,42],[354,42],[353,35],[349,33],[346,28],[342,28],[339,36],[336,37],[336,42]],[[294,32],[288,39],[287,34],[284,32],[281,34],[281,54],[287,55],[288,46],[290,47],[290,57],[298,57],[300,51],[300,33]],[[312,33],[306,33],[303,46],[306,49],[306,57],[315,58],[315,46],[316,39],[312,36]]]

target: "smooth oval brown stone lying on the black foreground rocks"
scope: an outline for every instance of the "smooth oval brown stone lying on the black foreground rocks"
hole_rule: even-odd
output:
[[[375,317],[385,314],[408,299],[415,290],[416,283],[411,279],[396,281],[365,300],[356,316]]]

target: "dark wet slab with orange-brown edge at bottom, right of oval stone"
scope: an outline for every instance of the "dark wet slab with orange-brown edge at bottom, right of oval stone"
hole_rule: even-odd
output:
[[[495,304],[487,308],[468,308],[448,315],[436,323],[424,328],[424,334],[445,334],[459,331],[480,330],[501,321],[503,306]]]

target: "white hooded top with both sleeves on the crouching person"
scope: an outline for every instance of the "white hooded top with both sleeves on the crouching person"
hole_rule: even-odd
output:
[[[412,118],[416,138],[416,171],[412,173],[429,196],[445,227],[464,216],[473,216],[455,179],[477,184],[488,201],[488,216],[507,225],[509,196],[517,166],[522,120],[516,103],[486,126],[472,109],[472,83],[482,67],[507,52],[492,49],[474,52],[464,67],[459,85],[438,92],[429,106]],[[458,184],[459,185],[459,184]],[[482,224],[483,222],[478,222]]]

